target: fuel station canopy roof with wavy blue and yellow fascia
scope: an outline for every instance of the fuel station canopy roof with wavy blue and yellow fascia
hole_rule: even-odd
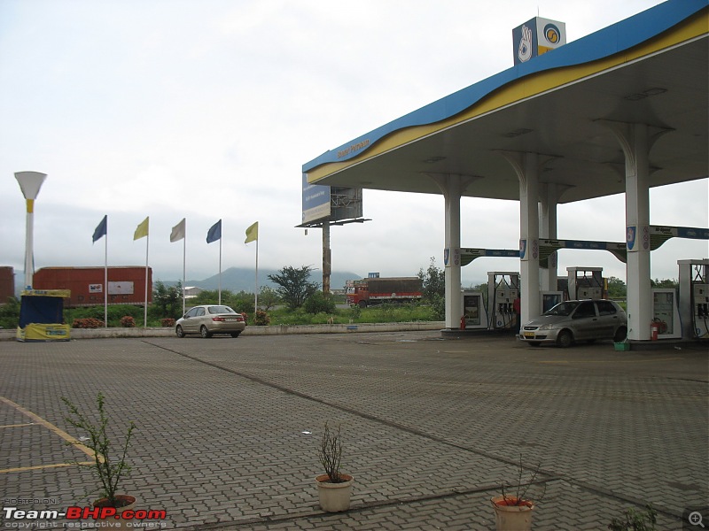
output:
[[[609,124],[644,123],[650,187],[709,175],[707,0],[670,0],[520,63],[303,165],[309,183],[519,199],[503,152],[535,152],[558,203],[626,191]]]

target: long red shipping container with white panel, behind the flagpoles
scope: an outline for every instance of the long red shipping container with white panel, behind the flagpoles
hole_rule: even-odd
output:
[[[105,286],[104,267],[43,267],[33,276],[34,289],[69,289],[72,293],[65,307],[104,304],[145,303],[145,267],[114,266],[108,268]],[[148,304],[152,302],[152,268],[148,267]]]

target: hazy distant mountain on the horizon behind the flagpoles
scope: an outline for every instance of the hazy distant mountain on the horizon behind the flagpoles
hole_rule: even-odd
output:
[[[269,274],[277,273],[280,273],[277,269],[259,269],[259,288],[261,288],[261,286],[277,288],[277,285],[269,280]],[[253,287],[256,281],[255,274],[255,270],[246,267],[230,267],[229,269],[225,269],[222,271],[222,289],[229,289],[234,292],[245,291],[247,293],[253,293]],[[343,289],[345,287],[345,281],[362,278],[364,277],[358,273],[333,272],[330,277],[330,288]],[[321,273],[320,270],[310,273],[310,281],[322,285],[323,273]],[[168,286],[174,286],[177,281],[164,281],[164,283]],[[201,289],[218,289],[219,275],[215,274],[201,281],[188,280],[185,282],[185,285],[196,286]]]

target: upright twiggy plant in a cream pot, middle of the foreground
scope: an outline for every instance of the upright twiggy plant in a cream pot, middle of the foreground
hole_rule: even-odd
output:
[[[340,427],[331,430],[325,422],[323,439],[319,448],[320,463],[325,473],[316,477],[320,508],[325,512],[342,512],[349,509],[353,477],[339,472],[342,459]]]

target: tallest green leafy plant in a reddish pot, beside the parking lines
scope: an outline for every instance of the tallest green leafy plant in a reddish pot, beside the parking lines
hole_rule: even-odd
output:
[[[113,528],[120,526],[121,513],[132,510],[136,503],[135,496],[119,494],[121,480],[130,473],[130,466],[126,462],[130,437],[136,425],[131,421],[126,433],[124,442],[120,446],[113,446],[107,434],[108,413],[105,411],[105,396],[99,392],[96,398],[97,419],[90,419],[68,398],[62,396],[62,402],[66,404],[69,414],[65,417],[66,422],[76,429],[86,434],[81,441],[74,441],[73,444],[82,444],[93,451],[94,463],[93,472],[96,474],[101,497],[97,499],[94,507],[113,507],[115,517],[119,521]]]

